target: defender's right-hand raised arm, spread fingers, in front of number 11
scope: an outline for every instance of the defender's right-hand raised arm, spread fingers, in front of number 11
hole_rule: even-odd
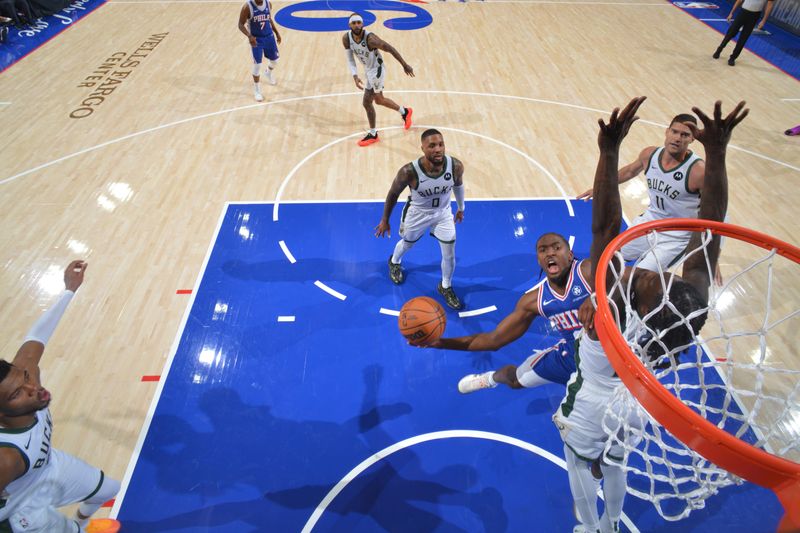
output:
[[[693,107],[692,111],[700,118],[703,129],[691,123],[687,126],[692,130],[694,138],[700,141],[706,150],[706,169],[703,178],[703,189],[700,195],[700,210],[697,218],[723,222],[728,211],[728,171],[725,164],[728,142],[734,128],[744,120],[749,109],[744,109],[745,102],[739,104],[722,117],[722,102],[714,104],[713,117],[709,117],[700,109]],[[706,254],[692,254],[701,245],[702,235],[693,233],[687,247],[689,257],[683,264],[683,278],[694,285],[704,298],[708,298],[708,287],[711,276],[716,271],[719,260],[720,238],[715,236],[706,248]],[[709,263],[706,264],[706,255]],[[710,270],[709,270],[710,269]]]

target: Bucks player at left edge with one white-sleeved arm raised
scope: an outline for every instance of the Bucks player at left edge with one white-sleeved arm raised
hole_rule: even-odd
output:
[[[86,263],[64,272],[66,290],[36,321],[14,361],[0,360],[0,531],[106,533],[119,530],[110,519],[89,521],[119,491],[119,481],[77,457],[52,447],[50,392],[40,382],[39,361],[75,291]],[[68,519],[56,509],[80,503]],[[5,526],[5,527],[4,527]]]

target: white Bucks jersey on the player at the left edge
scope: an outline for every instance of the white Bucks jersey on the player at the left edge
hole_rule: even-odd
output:
[[[50,418],[50,409],[37,411],[36,422],[27,428],[0,428],[0,447],[16,449],[25,461],[25,473],[9,483],[0,497],[7,499],[39,481],[50,464],[52,436],[53,419]]]

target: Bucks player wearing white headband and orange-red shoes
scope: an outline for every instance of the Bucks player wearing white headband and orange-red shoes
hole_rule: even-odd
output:
[[[356,87],[364,90],[364,109],[367,110],[367,120],[369,121],[369,132],[366,137],[358,141],[359,146],[368,146],[372,143],[378,142],[378,130],[375,129],[375,106],[373,102],[394,109],[403,118],[403,125],[405,129],[411,127],[411,113],[413,112],[410,107],[403,107],[398,105],[394,100],[383,96],[383,82],[386,78],[386,68],[383,64],[383,56],[381,50],[388,52],[394,56],[397,61],[403,65],[403,70],[406,74],[414,77],[414,69],[411,65],[405,62],[392,45],[382,40],[374,33],[364,29],[364,19],[358,13],[350,15],[348,20],[350,31],[342,36],[342,44],[344,45],[344,53],[347,57],[347,63],[350,66],[350,74],[353,75],[353,81]],[[366,72],[367,84],[361,81],[358,77],[358,69],[356,68],[355,58],[358,57],[359,61],[364,64]]]

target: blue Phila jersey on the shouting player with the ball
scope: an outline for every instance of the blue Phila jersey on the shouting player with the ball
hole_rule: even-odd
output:
[[[550,324],[561,334],[571,354],[574,353],[575,336],[582,328],[578,321],[578,309],[592,293],[581,274],[581,263],[572,262],[563,296],[555,293],[547,280],[539,288],[539,313],[550,320]]]

